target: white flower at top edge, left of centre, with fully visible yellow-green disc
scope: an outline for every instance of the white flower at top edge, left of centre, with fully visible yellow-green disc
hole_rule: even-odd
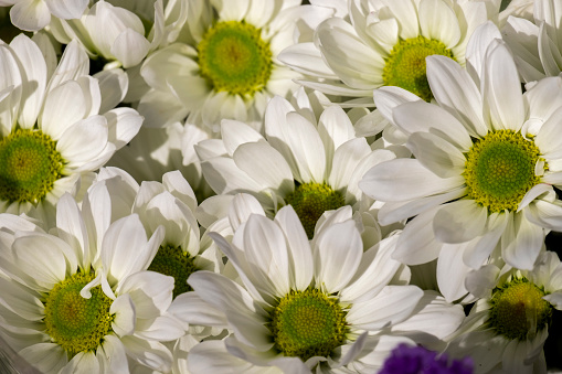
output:
[[[141,75],[151,87],[139,103],[148,126],[181,120],[220,132],[223,118],[259,127],[271,97],[287,97],[300,76],[277,60],[279,52],[309,39],[328,8],[295,0],[189,1],[177,43],[152,53]],[[172,7],[169,7],[172,8]],[[296,36],[297,34],[297,36]]]

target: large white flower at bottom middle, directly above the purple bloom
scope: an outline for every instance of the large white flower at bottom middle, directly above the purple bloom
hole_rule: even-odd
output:
[[[240,284],[199,271],[189,278],[183,317],[233,331],[193,346],[197,373],[373,373],[396,344],[420,331],[441,339],[464,319],[414,286],[390,286],[400,264],[390,258],[396,236],[367,252],[356,222],[333,222],[309,243],[291,206],[275,221],[252,214],[232,245],[210,234],[232,261]],[[418,332],[415,332],[418,330]],[[393,335],[394,334],[394,335]]]

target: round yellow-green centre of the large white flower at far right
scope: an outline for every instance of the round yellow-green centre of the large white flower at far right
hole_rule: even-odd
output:
[[[489,212],[517,211],[524,194],[540,182],[534,172],[539,158],[539,148],[520,132],[489,132],[466,154],[463,177],[468,197]]]

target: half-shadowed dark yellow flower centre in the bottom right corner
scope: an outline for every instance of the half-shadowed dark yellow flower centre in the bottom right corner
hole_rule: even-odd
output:
[[[494,290],[488,323],[498,334],[526,340],[545,328],[552,306],[543,300],[543,289],[527,278],[513,279]]]

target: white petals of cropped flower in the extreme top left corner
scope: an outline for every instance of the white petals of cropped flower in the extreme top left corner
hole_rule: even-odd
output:
[[[78,19],[89,0],[0,0],[0,7],[11,7],[10,19],[21,30],[39,31],[51,22],[51,15],[64,20]]]

